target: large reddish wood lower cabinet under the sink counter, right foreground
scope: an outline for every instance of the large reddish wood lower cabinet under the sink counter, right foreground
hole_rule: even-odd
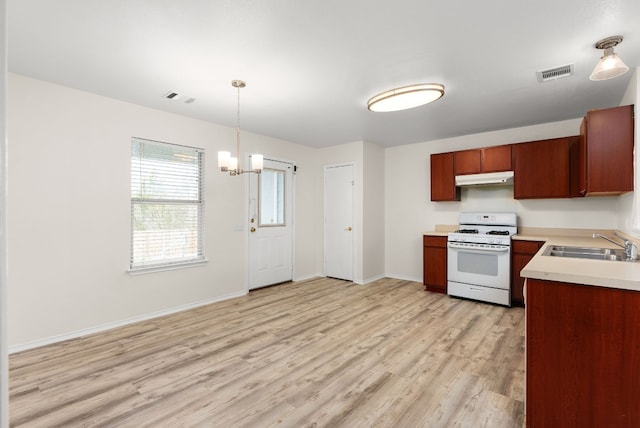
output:
[[[527,427],[640,427],[640,292],[529,279]]]

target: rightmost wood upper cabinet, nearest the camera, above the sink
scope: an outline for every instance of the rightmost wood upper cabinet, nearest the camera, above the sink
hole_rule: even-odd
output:
[[[573,154],[578,169],[573,196],[633,191],[633,114],[633,105],[587,113]]]

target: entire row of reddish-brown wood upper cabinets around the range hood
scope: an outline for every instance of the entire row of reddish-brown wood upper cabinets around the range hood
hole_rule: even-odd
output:
[[[631,192],[633,108],[589,111],[579,136],[431,155],[431,200],[459,201],[456,175],[512,169],[515,199]]]

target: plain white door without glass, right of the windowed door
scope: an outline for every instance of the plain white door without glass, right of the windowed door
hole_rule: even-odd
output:
[[[324,170],[324,271],[353,281],[353,165]]]

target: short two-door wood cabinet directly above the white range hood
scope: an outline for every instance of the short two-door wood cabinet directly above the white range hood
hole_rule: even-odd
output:
[[[511,146],[484,147],[455,152],[454,175],[511,170]]]

